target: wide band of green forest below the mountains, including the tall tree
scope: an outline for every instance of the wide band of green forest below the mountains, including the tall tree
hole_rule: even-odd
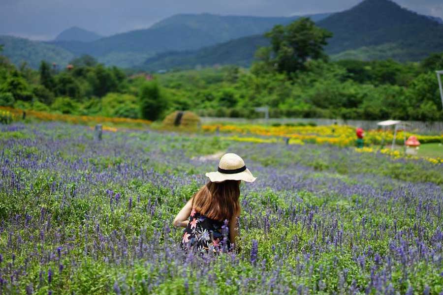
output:
[[[294,39],[300,32],[305,39]],[[250,69],[137,73],[82,56],[66,68],[41,61],[33,70],[0,56],[0,105],[152,120],[175,110],[257,118],[259,106],[269,106],[271,117],[443,118],[435,74],[443,68],[443,53],[421,62],[331,61],[323,52],[330,33],[303,18],[266,35],[272,46],[257,51]]]

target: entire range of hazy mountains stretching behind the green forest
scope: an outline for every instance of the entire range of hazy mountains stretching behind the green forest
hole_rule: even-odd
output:
[[[318,26],[333,32],[326,47],[333,59],[415,61],[443,51],[441,20],[419,15],[390,0],[364,0],[343,12],[310,17]],[[179,14],[149,29],[94,41],[85,40],[96,38],[95,33],[90,35],[79,28],[65,30],[56,40],[45,43],[8,39],[4,55],[14,63],[27,60],[32,66],[42,58],[66,63],[67,57],[82,54],[108,65],[150,70],[227,63],[247,66],[256,47],[267,44],[263,32],[297,18]]]

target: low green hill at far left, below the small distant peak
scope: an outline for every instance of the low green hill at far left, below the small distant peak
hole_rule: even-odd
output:
[[[1,55],[8,57],[16,65],[26,61],[32,68],[38,68],[41,60],[47,60],[65,66],[74,58],[71,52],[63,48],[24,38],[0,35],[0,44],[3,45]]]

